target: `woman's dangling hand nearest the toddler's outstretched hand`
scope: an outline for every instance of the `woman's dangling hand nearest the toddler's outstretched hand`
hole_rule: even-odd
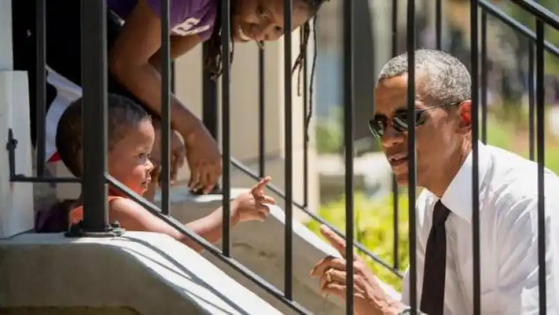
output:
[[[200,124],[188,135],[183,135],[187,148],[187,161],[190,168],[189,188],[209,193],[222,175],[222,154],[217,142]]]

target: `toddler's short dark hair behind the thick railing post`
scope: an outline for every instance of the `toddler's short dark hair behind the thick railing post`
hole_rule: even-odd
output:
[[[122,140],[130,128],[150,115],[130,98],[108,94],[108,150]],[[57,126],[56,147],[60,159],[75,177],[82,175],[82,98],[71,103],[62,113]]]

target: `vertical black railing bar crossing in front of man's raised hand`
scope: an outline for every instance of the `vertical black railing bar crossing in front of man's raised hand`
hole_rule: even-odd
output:
[[[354,314],[354,0],[343,8],[346,314]]]

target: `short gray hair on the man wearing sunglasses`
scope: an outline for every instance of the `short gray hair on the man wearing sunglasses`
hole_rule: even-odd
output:
[[[407,53],[391,59],[380,71],[377,85],[386,78],[407,74]],[[456,57],[439,50],[415,51],[416,92],[440,104],[472,98],[472,78]],[[437,104],[438,105],[438,104]]]

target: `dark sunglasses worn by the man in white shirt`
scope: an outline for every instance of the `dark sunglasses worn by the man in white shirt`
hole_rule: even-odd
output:
[[[462,102],[453,102],[441,105],[431,106],[430,108],[426,108],[423,110],[415,110],[415,125],[421,126],[426,122],[426,116],[423,115],[424,112],[428,110],[432,110],[433,108],[442,108],[447,106],[458,105]],[[404,132],[407,131],[407,109],[402,108],[401,110],[396,110],[394,117],[392,117],[392,125],[395,131]],[[373,119],[369,121],[369,129],[376,138],[382,137],[384,135],[384,131],[389,126],[389,118],[384,115],[375,115]]]

